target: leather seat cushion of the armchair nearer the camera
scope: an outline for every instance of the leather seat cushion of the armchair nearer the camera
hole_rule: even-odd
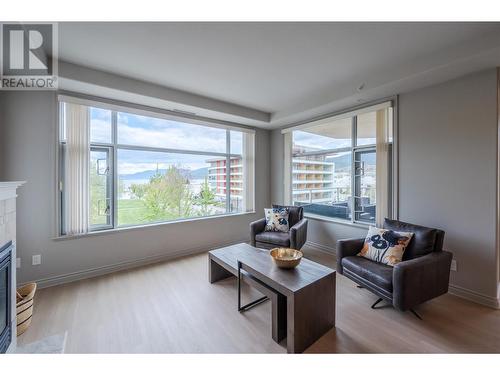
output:
[[[342,268],[392,293],[393,267],[363,257],[350,256],[342,258]]]

